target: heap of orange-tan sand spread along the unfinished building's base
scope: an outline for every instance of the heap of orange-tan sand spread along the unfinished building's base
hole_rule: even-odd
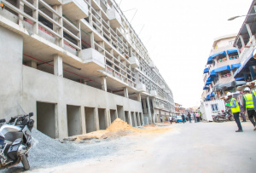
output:
[[[116,118],[112,124],[108,126],[107,130],[97,130],[87,134],[75,136],[75,141],[84,141],[90,139],[115,139],[121,136],[136,136],[143,134],[157,134],[164,133],[168,130],[172,130],[170,127],[160,127],[155,124],[148,124],[137,129],[127,124],[120,118]]]

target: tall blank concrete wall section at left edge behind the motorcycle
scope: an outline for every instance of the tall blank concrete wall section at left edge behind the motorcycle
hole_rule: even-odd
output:
[[[2,26],[0,33],[0,117],[8,119],[23,113],[19,107],[22,107],[23,39]]]

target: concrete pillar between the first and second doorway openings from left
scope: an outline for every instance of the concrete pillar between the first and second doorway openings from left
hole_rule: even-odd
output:
[[[67,105],[62,102],[55,104],[55,136],[56,138],[64,138],[68,136]]]

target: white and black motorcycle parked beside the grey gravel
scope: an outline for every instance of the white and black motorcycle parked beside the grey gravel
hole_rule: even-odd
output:
[[[24,170],[29,170],[28,152],[32,148],[33,113],[0,119],[0,169],[9,168],[20,161]]]

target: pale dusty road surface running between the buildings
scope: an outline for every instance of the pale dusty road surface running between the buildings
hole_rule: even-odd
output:
[[[52,172],[256,172],[256,131],[249,122],[172,124],[156,136],[125,136],[119,154],[63,165]],[[137,140],[129,146],[129,140]]]

